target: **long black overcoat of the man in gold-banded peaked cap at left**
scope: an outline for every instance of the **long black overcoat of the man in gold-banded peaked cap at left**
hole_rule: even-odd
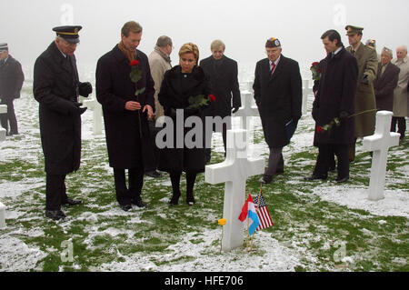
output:
[[[53,42],[38,56],[33,92],[39,103],[40,135],[45,172],[65,175],[78,170],[81,158],[81,116],[72,114],[81,83],[75,55],[69,59]]]

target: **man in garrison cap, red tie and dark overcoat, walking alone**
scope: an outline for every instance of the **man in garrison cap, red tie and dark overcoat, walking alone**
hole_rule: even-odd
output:
[[[281,43],[270,38],[265,44],[267,58],[255,66],[254,99],[270,148],[268,167],[260,182],[269,184],[273,175],[284,172],[283,147],[301,118],[302,80],[296,61],[282,55]],[[292,130],[291,130],[292,129]],[[288,135],[288,131],[292,131]]]

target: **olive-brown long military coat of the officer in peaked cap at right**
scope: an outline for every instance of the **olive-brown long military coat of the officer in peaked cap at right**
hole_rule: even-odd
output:
[[[352,46],[346,50],[352,53]],[[364,112],[376,108],[374,96],[374,79],[378,70],[378,57],[376,51],[363,43],[359,45],[355,52],[358,62],[358,80],[355,96],[355,113]],[[369,84],[361,83],[364,75],[368,75]],[[356,115],[355,118],[355,137],[364,137],[374,134],[376,112]]]

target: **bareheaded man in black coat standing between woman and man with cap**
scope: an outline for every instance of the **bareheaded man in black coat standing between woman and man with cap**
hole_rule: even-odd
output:
[[[206,115],[220,116],[223,119],[237,112],[242,105],[237,79],[237,62],[224,55],[225,45],[221,40],[214,40],[210,45],[210,50],[212,55],[200,62],[205,75],[210,79],[212,93],[215,95],[215,101],[207,108]],[[226,149],[226,131],[230,129],[230,127],[227,127],[228,125],[231,126],[230,119],[227,123],[223,123],[222,127],[224,153]],[[213,129],[215,130],[215,128]],[[211,148],[206,148],[205,155],[206,162],[210,162]]]

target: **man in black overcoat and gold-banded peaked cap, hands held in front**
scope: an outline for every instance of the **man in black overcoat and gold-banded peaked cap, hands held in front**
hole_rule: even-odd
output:
[[[82,201],[66,195],[65,176],[77,171],[81,157],[81,115],[86,108],[78,96],[93,91],[81,83],[75,61],[81,26],[53,28],[55,41],[35,61],[33,92],[39,103],[40,135],[45,155],[45,216],[65,217],[61,205],[80,205]]]

